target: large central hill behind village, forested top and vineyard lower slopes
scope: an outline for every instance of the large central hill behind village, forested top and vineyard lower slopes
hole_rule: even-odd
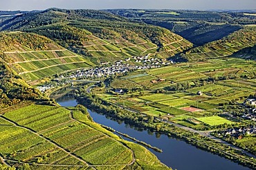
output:
[[[98,10],[53,8],[14,17],[0,28],[41,34],[97,64],[147,54],[168,58],[192,47],[165,28]]]

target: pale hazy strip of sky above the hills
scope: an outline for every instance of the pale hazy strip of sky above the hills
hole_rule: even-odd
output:
[[[9,0],[0,10],[64,9],[166,9],[166,10],[256,10],[255,0]]]

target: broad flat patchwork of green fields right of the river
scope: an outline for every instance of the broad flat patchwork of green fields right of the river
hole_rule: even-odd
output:
[[[119,95],[118,98],[115,95],[106,94],[106,100],[141,111],[144,114],[162,118],[168,116],[169,120],[192,128],[200,129],[207,126],[212,128],[212,125],[218,123],[203,124],[201,121],[191,118],[219,115],[221,106],[234,101],[242,103],[246,96],[254,94],[255,79],[244,79],[243,77],[255,76],[255,67],[255,61],[246,61],[245,63],[244,59],[227,58],[197,63],[177,63],[167,67],[140,70],[116,78],[111,85],[115,88],[124,87],[125,89],[140,85],[140,88],[147,90],[129,92]],[[239,78],[225,78],[228,76]],[[208,78],[212,77],[221,77],[223,80],[208,83]],[[164,81],[152,83],[160,78]],[[175,90],[168,92],[168,87],[175,87],[179,83],[189,84],[190,87],[176,90],[176,92]],[[201,83],[201,85],[196,86],[196,83]],[[201,95],[197,94],[198,92],[201,92]],[[102,94],[99,95],[102,96]],[[191,120],[198,122],[199,125]],[[223,123],[230,124],[229,120],[227,122],[224,118],[221,120]],[[221,125],[221,120],[219,125]]]

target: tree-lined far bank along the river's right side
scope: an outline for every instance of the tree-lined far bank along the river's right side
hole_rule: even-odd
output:
[[[240,151],[232,149],[226,145],[221,145],[218,142],[210,140],[209,138],[179,129],[172,125],[168,125],[167,123],[159,123],[156,120],[149,123],[147,117],[145,116],[115,107],[107,103],[107,101],[97,98],[97,96],[93,96],[94,98],[92,98],[91,94],[86,94],[85,96],[83,95],[81,95],[80,92],[77,99],[89,109],[93,109],[99,113],[111,116],[112,118],[115,117],[118,120],[124,120],[125,122],[131,123],[132,125],[136,125],[138,127],[145,127],[147,129],[151,129],[152,131],[158,131],[174,138],[180,138],[196,147],[199,147],[200,149],[218,154],[219,156],[223,156],[234,162],[239,162],[247,167],[255,168],[255,159],[252,160],[251,158],[241,154]],[[97,101],[100,101],[100,104],[97,103]]]

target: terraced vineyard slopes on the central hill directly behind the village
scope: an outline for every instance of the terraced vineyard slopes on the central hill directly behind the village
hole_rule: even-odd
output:
[[[163,43],[163,47],[158,51],[156,44],[139,36],[131,41],[123,38],[99,39],[96,36],[90,35],[87,36],[84,47],[90,54],[99,59],[100,62],[108,62],[122,60],[123,57],[127,56],[143,56],[147,54],[149,56],[167,58],[192,45],[181,36],[174,34],[162,37],[160,41]],[[111,56],[111,59],[108,56]]]

